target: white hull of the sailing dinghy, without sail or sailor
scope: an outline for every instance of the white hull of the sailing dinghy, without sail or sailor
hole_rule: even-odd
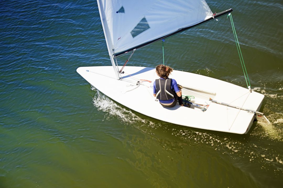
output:
[[[192,95],[195,97],[193,103],[208,104],[209,107],[205,112],[199,107],[181,107],[178,103],[175,107],[164,108],[153,97],[152,85],[155,79],[158,79],[155,68],[127,66],[124,71],[126,73],[121,75],[123,79],[118,80],[114,77],[112,66],[77,69],[77,72],[100,92],[136,112],[199,129],[245,134],[252,126],[254,113],[216,104],[209,101],[209,98],[254,111],[260,109],[264,98],[260,93],[249,92],[248,89],[228,82],[173,70],[169,78],[174,78],[185,88],[182,89],[183,95]],[[138,79],[152,82],[144,81],[137,87]]]

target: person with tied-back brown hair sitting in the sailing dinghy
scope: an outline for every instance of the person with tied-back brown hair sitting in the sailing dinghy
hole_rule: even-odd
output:
[[[157,65],[156,74],[160,77],[153,83],[153,96],[159,99],[159,103],[163,107],[173,107],[179,101],[180,106],[183,105],[182,91],[180,85],[175,79],[168,78],[173,69],[165,65]]]

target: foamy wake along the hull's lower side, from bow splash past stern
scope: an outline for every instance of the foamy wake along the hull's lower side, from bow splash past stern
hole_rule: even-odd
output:
[[[251,143],[249,141],[253,138],[254,140],[270,140],[271,138],[275,142],[281,142],[283,132],[275,125],[282,125],[282,114],[277,114],[277,119],[275,117],[271,118],[269,115],[268,118],[273,120],[271,121],[273,124],[258,123],[261,126],[257,126],[258,124],[255,125],[254,130],[248,135],[231,135],[214,131],[196,130],[184,126],[175,126],[167,122],[154,123],[139,117],[131,112],[130,109],[113,102],[94,87],[91,89],[96,91],[93,97],[93,105],[98,110],[107,113],[105,115],[106,120],[116,117],[121,123],[135,127],[147,134],[159,134],[161,131],[167,135],[166,137],[172,136],[172,140],[178,138],[185,143],[189,142],[190,145],[205,145],[205,147],[219,151],[222,154],[228,154],[234,160],[243,159],[249,162],[261,163],[261,169],[268,169],[270,165],[278,169],[283,165],[282,156],[277,154],[276,151],[270,151],[268,145],[260,145],[259,143]],[[246,138],[247,136],[248,138]],[[163,139],[160,139],[160,141],[162,140]],[[160,143],[160,145],[170,147],[170,144],[166,145]]]

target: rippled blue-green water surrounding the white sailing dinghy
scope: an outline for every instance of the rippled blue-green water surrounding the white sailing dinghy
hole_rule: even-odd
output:
[[[0,187],[282,187],[282,1],[207,3],[233,8],[252,88],[265,95],[272,124],[245,135],[158,121],[91,87],[76,68],[110,65],[96,1],[1,1]],[[164,52],[176,70],[246,87],[226,16]],[[162,61],[159,41],[129,63]]]

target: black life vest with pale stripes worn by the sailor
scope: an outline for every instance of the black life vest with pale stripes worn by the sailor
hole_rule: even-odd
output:
[[[156,79],[156,99],[159,100],[169,100],[174,98],[175,91],[171,89],[172,79]]]

